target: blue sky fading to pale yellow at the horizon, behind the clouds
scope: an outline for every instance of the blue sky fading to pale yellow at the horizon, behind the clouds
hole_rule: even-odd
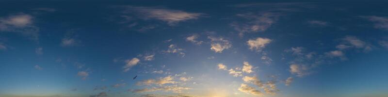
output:
[[[0,31],[0,96],[74,96],[88,97],[101,91],[96,87],[107,86],[109,97],[160,95],[211,96],[217,89],[229,94],[226,97],[255,97],[239,92],[234,85],[243,83],[241,77],[233,77],[220,70],[217,64],[228,68],[241,67],[249,62],[255,68],[254,75],[260,80],[270,80],[275,75],[280,90],[268,97],[355,97],[387,96],[388,90],[388,48],[379,44],[388,40],[388,30],[374,27],[362,16],[387,17],[386,1],[1,1],[0,17],[16,14],[33,16],[33,25],[39,28],[38,39],[31,39],[23,32]],[[250,5],[252,4],[252,5]],[[256,4],[256,5],[255,5]],[[136,19],[127,21],[121,12],[122,6],[139,6],[180,10],[188,13],[202,13],[197,19],[179,21],[169,25],[158,19]],[[249,6],[248,6],[249,5]],[[37,10],[50,8],[55,11]],[[230,26],[232,22],[249,22],[237,14],[264,12],[281,13],[274,23],[262,32],[239,32]],[[308,21],[327,22],[313,25]],[[128,27],[128,22],[138,22]],[[125,23],[123,23],[125,22]],[[388,21],[385,21],[386,23]],[[139,31],[151,25],[152,29]],[[198,35],[201,45],[186,41],[186,37]],[[224,37],[232,44],[222,53],[210,50],[212,37]],[[311,70],[310,75],[297,77],[290,73],[290,61],[294,58],[285,50],[304,47],[324,55],[337,50],[346,36],[354,36],[371,45],[371,51],[350,49],[344,51],[346,60],[325,59],[324,63]],[[61,46],[63,38],[77,40],[75,46]],[[273,61],[266,65],[260,60],[262,52],[252,51],[246,44],[249,39],[265,37],[273,41],[263,51]],[[167,42],[167,40],[170,40]],[[184,49],[184,57],[176,53],[165,53],[168,46],[175,44]],[[36,48],[43,48],[43,54],[36,54]],[[152,61],[144,61],[142,54],[155,54]],[[123,72],[123,60],[139,58],[140,63]],[[214,57],[214,59],[209,59]],[[114,59],[119,62],[113,62]],[[59,61],[61,60],[61,61]],[[78,68],[75,64],[84,65]],[[42,70],[34,68],[35,65]],[[163,65],[165,65],[163,67]],[[163,70],[170,74],[150,73]],[[85,80],[78,76],[88,71]],[[187,83],[192,88],[183,93],[155,91],[132,93],[131,89],[148,86],[136,85],[138,81],[158,79],[168,75],[186,73],[193,77]],[[136,80],[132,78],[138,75]],[[282,80],[293,77],[290,86]],[[104,81],[101,81],[105,79]],[[178,79],[178,78],[176,78]],[[126,83],[122,87],[114,84]],[[72,91],[76,89],[76,91]],[[109,92],[108,92],[109,91]],[[217,93],[213,93],[217,94]],[[222,93],[221,93],[222,94]]]

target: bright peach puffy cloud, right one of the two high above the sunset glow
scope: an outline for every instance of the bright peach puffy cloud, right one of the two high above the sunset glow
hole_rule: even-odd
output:
[[[271,41],[272,40],[268,38],[258,37],[256,39],[249,39],[246,43],[248,44],[249,49],[261,51],[262,49],[265,48],[265,46],[271,43]]]

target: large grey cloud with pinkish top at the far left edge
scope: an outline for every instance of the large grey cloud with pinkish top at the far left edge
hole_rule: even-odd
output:
[[[34,25],[33,19],[33,16],[23,13],[0,17],[0,32],[18,32],[32,40],[38,40],[39,27]]]

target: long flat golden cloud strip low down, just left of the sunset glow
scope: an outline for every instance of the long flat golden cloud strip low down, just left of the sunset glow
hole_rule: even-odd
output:
[[[174,93],[181,93],[183,90],[189,90],[188,87],[181,87],[178,85],[170,85],[170,86],[161,86],[161,87],[152,87],[152,88],[144,88],[133,90],[133,93],[142,93],[142,92],[153,92],[153,91],[172,91]]]

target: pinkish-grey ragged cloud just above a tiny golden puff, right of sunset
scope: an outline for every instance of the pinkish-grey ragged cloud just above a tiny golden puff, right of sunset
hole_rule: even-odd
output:
[[[291,74],[296,74],[297,77],[303,77],[308,75],[309,73],[307,72],[307,70],[308,68],[305,65],[297,65],[297,64],[290,65]]]

